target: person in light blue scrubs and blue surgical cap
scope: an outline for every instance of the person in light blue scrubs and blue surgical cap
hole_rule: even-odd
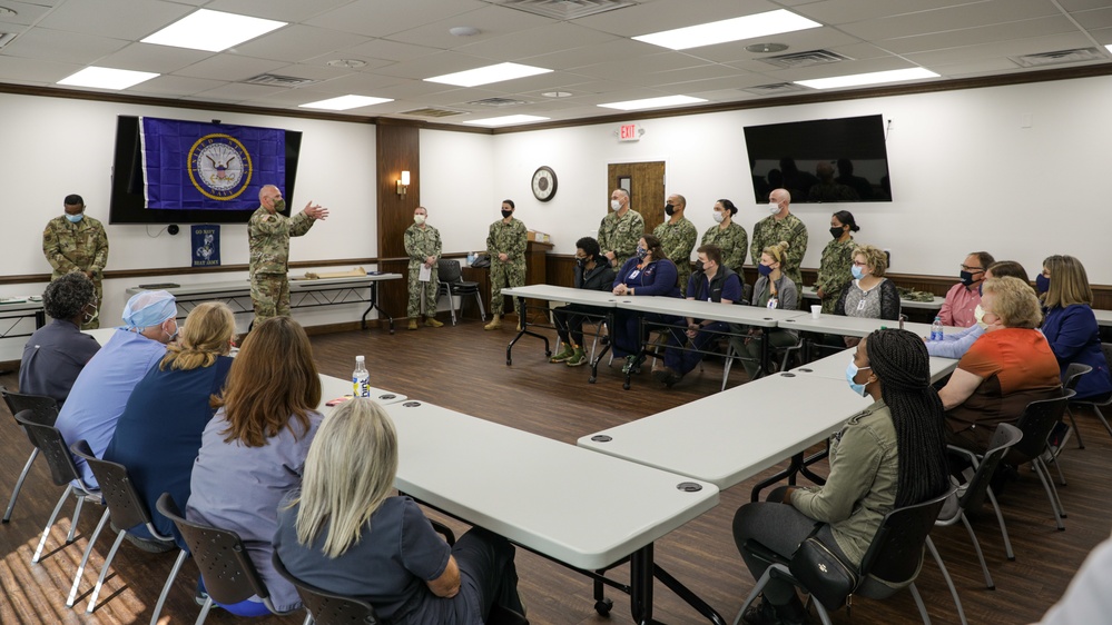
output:
[[[164,290],[142,291],[128,300],[125,327],[117,328],[89,360],[58,414],[55,427],[67,445],[83,438],[95,456],[104,457],[135,385],[163,359],[166,344],[177,336],[176,315],[174,296]],[[96,487],[97,479],[85,460],[73,458],[73,463],[81,479]]]

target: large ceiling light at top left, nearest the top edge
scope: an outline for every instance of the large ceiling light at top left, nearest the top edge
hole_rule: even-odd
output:
[[[287,22],[200,9],[142,39],[144,43],[219,52],[277,30]]]

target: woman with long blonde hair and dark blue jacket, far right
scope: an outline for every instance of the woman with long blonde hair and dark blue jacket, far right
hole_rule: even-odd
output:
[[[1112,393],[1109,365],[1101,350],[1100,326],[1093,315],[1093,289],[1080,260],[1072,256],[1052,256],[1043,260],[1043,276],[1050,284],[1043,296],[1046,318],[1043,336],[1054,350],[1062,380],[1072,363],[1093,368],[1077,380],[1076,399],[1103,398]]]

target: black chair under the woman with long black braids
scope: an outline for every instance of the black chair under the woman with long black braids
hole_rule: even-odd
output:
[[[862,558],[862,565],[858,569],[858,579],[860,582],[853,594],[872,599],[885,599],[899,592],[901,588],[893,588],[886,584],[880,584],[872,579],[869,575],[874,575],[879,579],[896,581],[913,579],[917,575],[917,571],[922,565],[924,544],[927,548],[934,550],[934,545],[931,543],[929,537],[931,529],[938,517],[938,510],[942,509],[943,504],[951,496],[951,493],[952,490],[919,504],[894,509],[885,515],[876,536],[874,536],[873,542],[869,544],[868,550],[865,552],[865,557]],[[780,556],[756,540],[746,540],[742,548],[769,563],[769,566],[765,569],[764,575],[757,581],[757,585],[754,586],[752,592],[749,593],[749,596],[741,605],[737,618],[734,619],[734,625],[740,623],[741,615],[745,614],[746,608],[757,598],[757,595],[764,591],[765,585],[773,577],[803,587],[788,569],[789,558]],[[938,564],[942,566],[944,575],[948,578],[948,573],[941,559]],[[915,605],[919,609],[923,622],[929,623],[931,619],[927,616],[926,606],[923,604],[923,597],[919,596],[914,581],[908,584],[907,588],[911,591],[912,597],[915,598]],[[956,594],[954,595],[954,601],[957,604],[962,623],[965,623],[965,614],[962,611],[961,601]],[[811,603],[815,605],[815,609],[818,612],[818,616],[824,625],[830,625],[830,616],[827,614],[826,607],[817,601]]]

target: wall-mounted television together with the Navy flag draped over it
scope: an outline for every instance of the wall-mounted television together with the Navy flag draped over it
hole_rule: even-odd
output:
[[[302,133],[119,116],[110,224],[246,224],[263,185],[289,214]]]

